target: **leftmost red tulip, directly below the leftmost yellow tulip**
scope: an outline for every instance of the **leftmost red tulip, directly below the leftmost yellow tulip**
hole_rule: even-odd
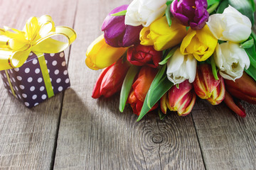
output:
[[[100,96],[108,98],[120,91],[129,67],[129,62],[123,62],[121,58],[110,67],[105,68],[96,81],[92,98],[100,98]]]

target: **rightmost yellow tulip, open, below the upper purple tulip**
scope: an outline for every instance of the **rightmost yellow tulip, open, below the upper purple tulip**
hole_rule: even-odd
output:
[[[192,54],[199,62],[213,55],[218,40],[210,32],[208,26],[201,30],[188,30],[188,35],[181,42],[181,54]]]

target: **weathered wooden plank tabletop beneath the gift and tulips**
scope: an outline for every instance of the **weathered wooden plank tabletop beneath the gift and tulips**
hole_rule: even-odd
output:
[[[197,99],[190,115],[150,113],[137,123],[119,95],[95,100],[100,71],[85,66],[90,42],[124,0],[0,0],[0,25],[22,29],[48,14],[77,40],[65,51],[71,88],[28,109],[0,83],[0,169],[256,169],[256,106],[240,118],[223,103]]]

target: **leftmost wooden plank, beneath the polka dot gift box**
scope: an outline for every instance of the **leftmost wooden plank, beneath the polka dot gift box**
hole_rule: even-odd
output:
[[[0,1],[1,28],[22,29],[31,16],[48,14],[56,26],[73,27],[76,1]],[[66,53],[68,56],[68,53]],[[0,83],[0,169],[50,169],[53,166],[63,94],[28,109]]]

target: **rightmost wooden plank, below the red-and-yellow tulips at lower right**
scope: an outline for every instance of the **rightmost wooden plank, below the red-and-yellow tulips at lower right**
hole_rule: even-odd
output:
[[[224,103],[198,100],[193,120],[206,169],[256,169],[256,106],[243,102],[246,118]]]

